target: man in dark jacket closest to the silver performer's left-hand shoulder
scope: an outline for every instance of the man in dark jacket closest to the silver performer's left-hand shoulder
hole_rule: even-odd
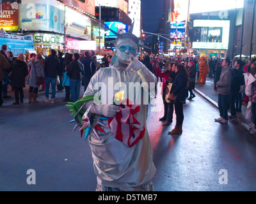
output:
[[[83,70],[83,80],[84,80],[84,92],[86,91],[86,88],[92,78],[92,76],[96,73],[96,65],[93,62],[93,59],[90,57],[89,52],[84,52],[84,59],[81,60],[81,62],[84,65]]]

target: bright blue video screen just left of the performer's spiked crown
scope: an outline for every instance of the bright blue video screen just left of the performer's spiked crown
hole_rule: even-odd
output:
[[[106,27],[109,27],[111,30],[116,33],[127,33],[129,30],[129,26],[127,24],[123,24],[122,22],[105,22]],[[105,38],[116,38],[116,35],[111,31],[106,30]]]

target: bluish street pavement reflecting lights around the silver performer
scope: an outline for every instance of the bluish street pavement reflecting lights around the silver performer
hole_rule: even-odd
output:
[[[205,87],[211,87],[210,83]],[[214,99],[211,103],[200,95],[207,88],[196,85],[196,89],[196,98],[184,105],[182,135],[168,135],[175,126],[175,113],[170,126],[159,121],[161,97],[149,108],[148,132],[157,168],[155,191],[255,191],[255,138],[240,120],[214,122],[219,117]],[[44,94],[39,104],[24,101],[22,106],[13,106],[13,97],[4,102],[0,109],[0,191],[95,191],[90,147],[78,131],[72,133],[74,124],[68,123],[72,117],[62,101],[64,96],[65,92],[57,93],[55,104],[45,102]],[[31,169],[36,173],[35,185],[26,182]]]

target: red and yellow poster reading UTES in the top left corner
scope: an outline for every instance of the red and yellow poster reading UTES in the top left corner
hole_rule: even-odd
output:
[[[19,7],[21,0],[2,0],[2,13],[0,13],[0,27],[4,31],[17,31],[19,29]]]

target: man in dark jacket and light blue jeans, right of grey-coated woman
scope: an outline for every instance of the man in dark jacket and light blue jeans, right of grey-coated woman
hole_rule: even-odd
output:
[[[55,103],[57,76],[60,75],[60,60],[56,57],[56,51],[51,50],[49,57],[45,59],[45,101],[49,101],[49,87],[52,87],[51,103]]]

